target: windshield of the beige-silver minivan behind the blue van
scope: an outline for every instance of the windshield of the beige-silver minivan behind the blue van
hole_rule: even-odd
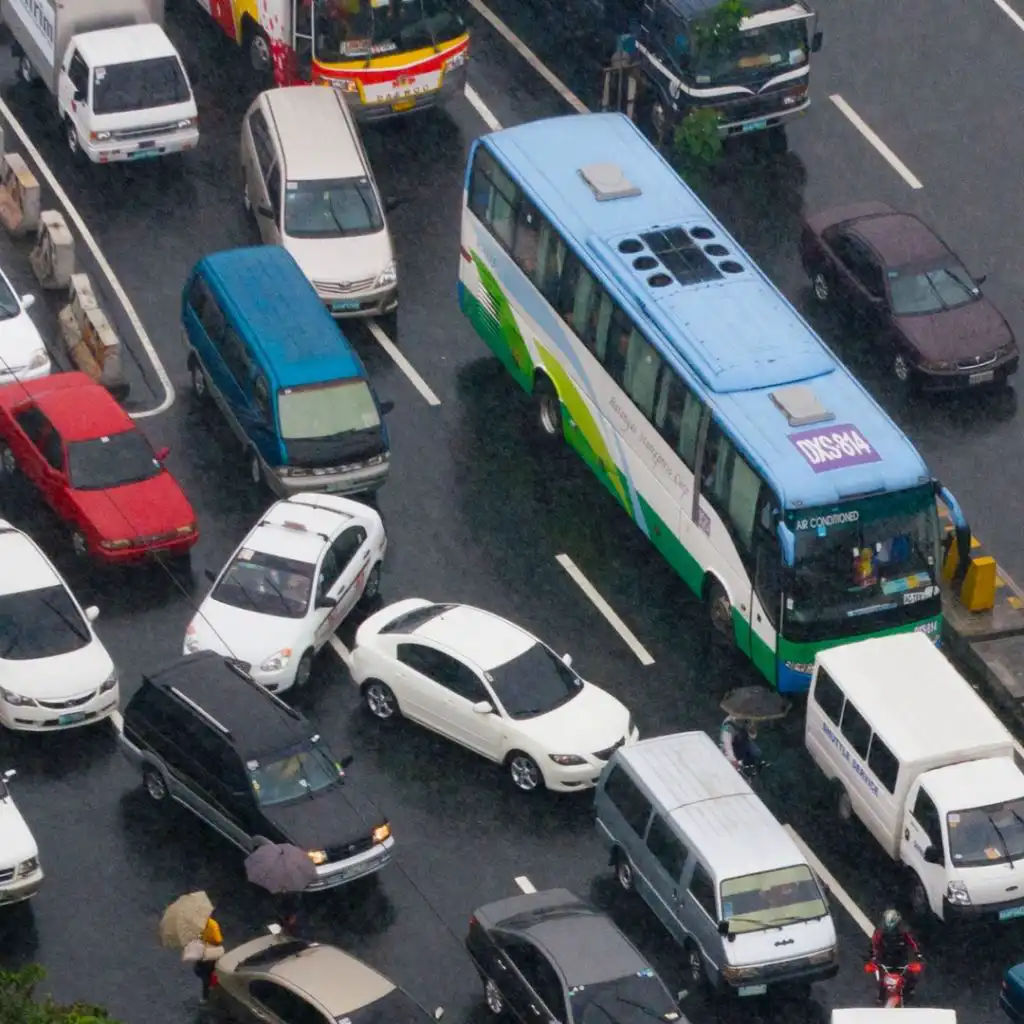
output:
[[[285,233],[293,239],[355,238],[383,229],[369,178],[289,181],[285,188]]]

